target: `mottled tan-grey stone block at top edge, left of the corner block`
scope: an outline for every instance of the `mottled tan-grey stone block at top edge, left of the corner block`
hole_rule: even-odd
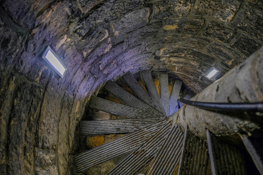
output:
[[[194,14],[201,16],[210,16],[219,20],[229,22],[239,10],[241,1],[217,1],[201,0],[195,6]]]

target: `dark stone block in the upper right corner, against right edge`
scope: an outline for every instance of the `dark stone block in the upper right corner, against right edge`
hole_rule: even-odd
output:
[[[251,3],[241,9],[238,16],[231,24],[254,36],[256,39],[263,41],[263,9]]]

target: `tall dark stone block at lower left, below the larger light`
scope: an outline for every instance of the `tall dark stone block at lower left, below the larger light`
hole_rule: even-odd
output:
[[[34,139],[43,89],[35,84],[17,83],[9,119],[7,165],[9,174],[34,173]]]

